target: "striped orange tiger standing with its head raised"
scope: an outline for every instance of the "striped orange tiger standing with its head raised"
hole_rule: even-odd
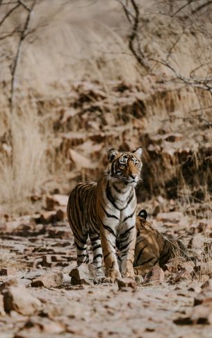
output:
[[[120,278],[115,240],[121,251],[122,276],[135,278],[133,271],[136,244],[136,192],[142,169],[142,148],[131,152],[108,151],[108,169],[97,183],[79,183],[67,204],[67,217],[74,234],[77,263],[88,263],[87,239],[90,236],[93,263],[101,276],[102,252],[109,280]]]

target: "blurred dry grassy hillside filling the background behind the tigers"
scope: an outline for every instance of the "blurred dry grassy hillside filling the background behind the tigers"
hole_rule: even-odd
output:
[[[148,191],[164,194],[170,181],[175,197],[179,185],[188,185],[187,190],[193,185],[208,189],[210,4],[199,8],[204,1],[188,1],[187,6],[183,2],[140,3],[135,28],[135,1],[103,5],[101,1],[55,0],[51,9],[44,0],[26,1],[26,6],[1,1],[3,205],[23,212],[28,210],[24,201],[31,194],[54,188],[68,193],[76,176],[97,179],[99,171],[88,163],[83,167],[83,161],[77,167],[69,150],[78,150],[84,142],[84,149],[79,147],[81,155],[95,158],[98,153],[96,168],[99,164],[103,168],[104,149],[132,137],[129,148],[140,143],[145,147],[150,171],[142,199],[149,198]],[[128,48],[133,29],[137,31],[132,50],[136,56],[142,53],[146,68]],[[83,133],[83,140],[70,131]],[[92,133],[102,135],[92,137]],[[181,142],[167,144],[169,135],[152,139],[152,135],[169,133],[181,133]],[[192,158],[189,164],[188,157]],[[75,174],[69,177],[70,171]],[[188,179],[190,171],[195,182]]]

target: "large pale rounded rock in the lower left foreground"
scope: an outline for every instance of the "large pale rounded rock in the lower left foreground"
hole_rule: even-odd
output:
[[[31,296],[23,286],[9,286],[3,291],[3,303],[6,312],[15,310],[24,316],[30,316],[40,310],[41,302]]]

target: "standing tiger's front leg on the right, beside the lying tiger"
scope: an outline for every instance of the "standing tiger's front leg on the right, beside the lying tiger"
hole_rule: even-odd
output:
[[[133,269],[134,252],[136,246],[136,225],[133,222],[124,225],[124,231],[120,233],[119,244],[122,260],[122,277],[135,279]]]

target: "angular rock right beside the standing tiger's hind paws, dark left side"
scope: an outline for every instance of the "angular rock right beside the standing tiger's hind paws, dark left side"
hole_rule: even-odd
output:
[[[81,264],[79,267],[72,269],[70,277],[72,277],[72,285],[92,285],[95,280],[88,264]]]

